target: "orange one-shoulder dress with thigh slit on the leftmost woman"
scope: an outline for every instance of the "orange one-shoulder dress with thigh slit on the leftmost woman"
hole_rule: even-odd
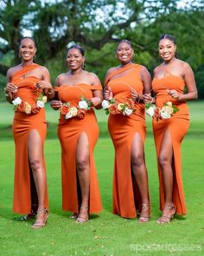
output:
[[[16,85],[16,97],[20,97],[22,102],[35,104],[38,97],[36,95],[35,83],[40,79],[29,76],[29,72],[38,68],[39,65],[31,64],[21,70],[16,71],[10,82]],[[28,76],[27,76],[28,74]],[[41,108],[37,114],[25,114],[15,111],[13,121],[13,136],[16,145],[15,181],[13,211],[15,213],[30,213],[32,205],[38,204],[35,182],[32,171],[29,167],[28,139],[29,133],[36,130],[41,136],[42,146],[47,132],[45,109]],[[44,156],[43,156],[44,160]],[[45,162],[44,171],[46,172]],[[48,208],[48,189],[46,188],[45,207]]]

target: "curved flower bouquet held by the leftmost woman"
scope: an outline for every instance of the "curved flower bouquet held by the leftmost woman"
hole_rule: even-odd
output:
[[[34,105],[30,105],[28,102],[22,102],[20,97],[16,97],[12,103],[15,111],[24,112],[25,114],[37,114],[41,108],[44,108],[47,102],[47,96],[37,93],[38,97]]]

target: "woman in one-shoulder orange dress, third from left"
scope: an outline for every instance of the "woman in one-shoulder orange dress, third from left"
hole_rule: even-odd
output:
[[[105,101],[129,102],[123,115],[121,105],[109,108],[108,128],[115,148],[113,177],[113,213],[139,222],[150,220],[148,174],[144,161],[143,143],[146,135],[143,93],[150,93],[150,74],[146,68],[132,63],[134,51],[131,42],[118,43],[118,67],[109,69],[105,77]],[[103,102],[106,108],[107,102]],[[120,107],[119,107],[120,106]],[[117,108],[117,109],[116,109]],[[131,108],[136,108],[131,113]],[[131,115],[130,115],[131,114]]]

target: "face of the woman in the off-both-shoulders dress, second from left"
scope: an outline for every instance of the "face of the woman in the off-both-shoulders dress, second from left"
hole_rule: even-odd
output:
[[[79,49],[69,49],[67,53],[67,65],[72,70],[81,69],[85,57],[82,56]]]

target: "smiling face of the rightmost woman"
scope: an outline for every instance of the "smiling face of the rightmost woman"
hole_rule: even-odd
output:
[[[159,55],[164,62],[169,62],[175,57],[176,45],[169,39],[163,39],[159,42]]]

